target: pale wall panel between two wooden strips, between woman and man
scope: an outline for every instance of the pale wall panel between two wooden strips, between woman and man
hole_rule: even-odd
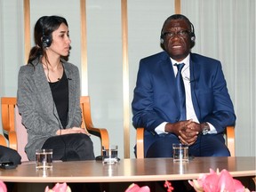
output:
[[[121,1],[86,0],[88,93],[95,126],[108,129],[124,157]],[[94,143],[95,148],[98,143]],[[97,149],[96,149],[97,151]]]

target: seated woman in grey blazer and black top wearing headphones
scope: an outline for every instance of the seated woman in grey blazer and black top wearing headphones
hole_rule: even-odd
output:
[[[37,148],[52,148],[53,160],[94,159],[90,135],[81,128],[80,78],[68,57],[68,22],[44,16],[36,22],[35,44],[22,66],[18,82],[18,107],[28,132],[25,148],[36,160]]]

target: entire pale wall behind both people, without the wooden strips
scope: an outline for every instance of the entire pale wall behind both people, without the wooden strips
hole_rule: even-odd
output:
[[[129,97],[141,58],[160,52],[164,20],[174,13],[174,0],[128,2]],[[72,50],[69,61],[81,72],[80,1],[30,0],[31,42],[36,20],[57,14],[68,20]],[[236,156],[255,156],[255,1],[181,0],[181,12],[196,29],[198,52],[221,60],[236,109]],[[124,156],[123,58],[121,0],[86,0],[88,93],[94,125],[108,129],[110,142]],[[0,0],[0,96],[16,96],[17,76],[24,65],[23,4]],[[32,44],[33,45],[33,44]],[[83,88],[82,82],[82,88]],[[133,155],[135,130],[130,135]],[[1,128],[0,128],[1,130]],[[93,139],[96,155],[99,140]],[[244,148],[247,148],[244,150]]]

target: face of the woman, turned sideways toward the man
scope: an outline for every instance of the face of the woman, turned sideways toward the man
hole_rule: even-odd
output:
[[[68,56],[71,40],[69,38],[68,26],[64,23],[60,24],[60,27],[52,32],[52,44],[47,49],[60,56]]]

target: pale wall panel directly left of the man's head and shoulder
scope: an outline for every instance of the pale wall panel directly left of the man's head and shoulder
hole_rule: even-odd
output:
[[[174,13],[174,0],[164,1],[128,1],[128,55],[130,73],[130,103],[132,103],[140,59],[156,52],[162,52],[160,33],[164,20]],[[136,131],[130,124],[130,153],[134,156]]]

